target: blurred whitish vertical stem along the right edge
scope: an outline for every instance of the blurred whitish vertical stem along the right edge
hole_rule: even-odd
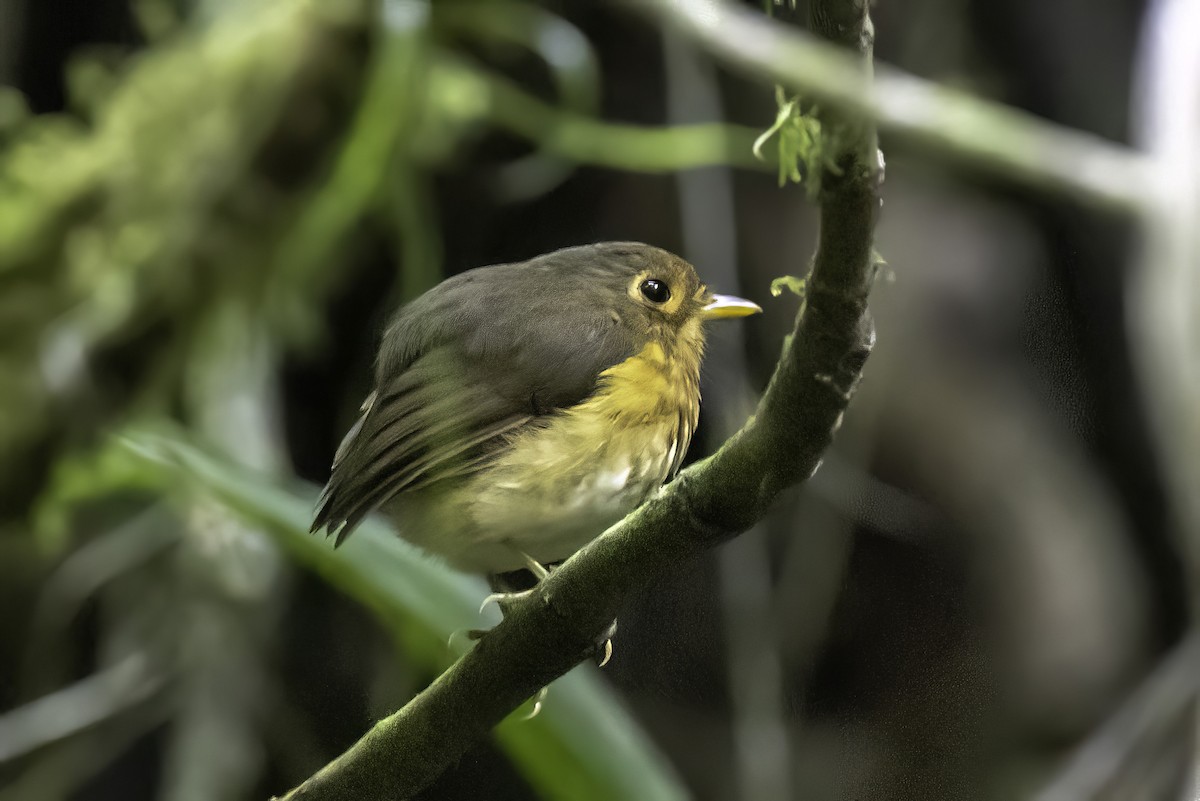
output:
[[[1130,337],[1181,546],[1200,612],[1200,0],[1150,6],[1139,55],[1139,139],[1153,157],[1156,203],[1129,293]]]

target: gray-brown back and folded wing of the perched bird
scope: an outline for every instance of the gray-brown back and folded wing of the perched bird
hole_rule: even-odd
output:
[[[601,371],[632,355],[608,305],[638,265],[608,251],[470,270],[402,308],[313,531],[337,531],[341,542],[397,493],[482,469],[506,434],[578,403]]]

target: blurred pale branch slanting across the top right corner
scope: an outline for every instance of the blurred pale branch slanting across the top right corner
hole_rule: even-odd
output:
[[[1118,212],[1142,209],[1152,189],[1147,159],[1135,151],[894,68],[877,67],[874,85],[864,84],[852,56],[725,0],[637,7],[736,68],[875,120],[881,132],[940,157]]]

